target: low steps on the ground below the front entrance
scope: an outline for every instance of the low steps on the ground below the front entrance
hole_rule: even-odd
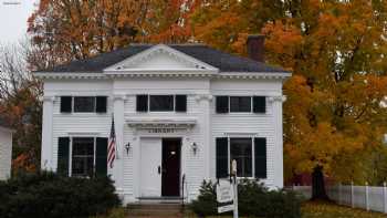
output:
[[[127,217],[182,217],[184,207],[176,203],[139,203],[127,205]]]

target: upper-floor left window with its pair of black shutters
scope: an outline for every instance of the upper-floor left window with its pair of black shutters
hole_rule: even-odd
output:
[[[106,96],[61,96],[61,113],[106,113]]]

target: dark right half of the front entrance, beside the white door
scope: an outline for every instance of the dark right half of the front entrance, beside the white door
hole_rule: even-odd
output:
[[[161,196],[180,196],[180,138],[163,138]]]

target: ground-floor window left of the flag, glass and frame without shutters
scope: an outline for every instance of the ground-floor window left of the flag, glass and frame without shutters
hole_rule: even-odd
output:
[[[73,138],[72,175],[92,176],[94,165],[94,138]]]

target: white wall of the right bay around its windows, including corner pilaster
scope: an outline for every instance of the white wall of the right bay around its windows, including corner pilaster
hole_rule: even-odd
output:
[[[269,187],[276,187],[275,183],[276,174],[275,162],[279,159],[275,150],[279,146],[278,135],[280,127],[276,124],[276,117],[282,116],[274,107],[274,103],[269,101],[271,96],[282,95],[281,83],[257,83],[251,81],[232,82],[232,81],[218,81],[211,84],[211,93],[217,95],[230,95],[230,96],[252,96],[261,95],[266,96],[266,110],[264,114],[260,113],[227,113],[217,114],[216,103],[211,103],[211,154],[216,154],[216,141],[217,137],[265,137],[266,138],[266,169],[268,177],[262,181]],[[282,118],[281,118],[282,120]],[[282,142],[282,141],[281,141]],[[282,165],[282,163],[281,163]],[[211,155],[211,175],[216,175],[216,156]]]

